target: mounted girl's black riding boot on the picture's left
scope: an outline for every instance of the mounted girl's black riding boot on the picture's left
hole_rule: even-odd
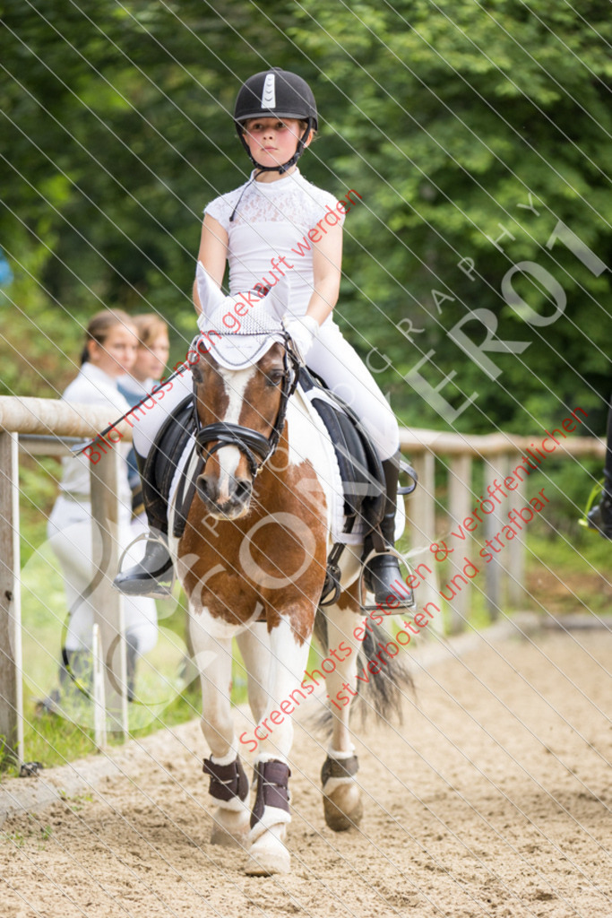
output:
[[[134,451],[136,453],[136,451]],[[149,521],[150,538],[141,561],[117,574],[113,585],[127,596],[152,596],[167,599],[174,580],[172,558],[168,550],[167,508],[159,492],[146,480],[144,459],[136,453],[142,480],[142,496]]]

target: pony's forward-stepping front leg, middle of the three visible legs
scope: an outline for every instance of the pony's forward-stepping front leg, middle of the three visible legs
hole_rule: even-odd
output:
[[[260,748],[255,756],[257,789],[250,815],[251,876],[287,873],[290,856],[284,845],[289,811],[289,753],[294,739],[294,727],[286,711],[291,694],[299,689],[308,660],[308,647],[314,621],[314,608],[308,611],[299,627],[294,629],[282,618],[270,632],[271,665],[267,679],[269,697],[255,735]],[[288,703],[287,703],[288,702]]]

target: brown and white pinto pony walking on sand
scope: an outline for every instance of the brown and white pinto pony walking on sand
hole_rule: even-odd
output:
[[[211,321],[213,313],[218,317],[234,306],[235,299],[223,297],[201,266],[198,283]],[[217,320],[215,327],[220,325]],[[209,334],[206,341],[217,339]],[[242,845],[249,852],[247,872],[267,875],[287,872],[290,865],[284,837],[294,733],[288,714],[282,722],[270,715],[283,703],[289,707],[287,700],[304,678],[330,549],[335,460],[327,432],[301,398],[296,394],[284,406],[295,372],[284,343],[268,340],[255,348],[254,363],[231,369],[234,357],[228,361],[221,355],[235,341],[200,346],[201,358],[193,366],[198,442],[206,465],[184,535],[173,541],[172,551],[200,666],[202,728],[211,750],[205,772],[217,807],[212,841]],[[276,448],[264,461],[264,444],[276,435]],[[362,622],[356,592],[361,553],[361,545],[346,547],[342,592],[325,612],[328,648],[351,648],[350,654],[334,657],[336,667],[326,678],[332,699],[347,686],[354,694],[357,684],[362,643],[353,633]],[[256,735],[263,737],[254,757],[252,812],[229,700],[234,637],[248,671]],[[348,704],[332,709],[322,771],[325,817],[335,830],[357,825],[362,817],[349,711]]]

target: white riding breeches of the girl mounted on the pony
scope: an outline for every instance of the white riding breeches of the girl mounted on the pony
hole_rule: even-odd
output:
[[[350,405],[372,437],[380,458],[389,459],[394,455],[399,445],[395,415],[373,375],[333,322],[319,329],[317,339],[308,352],[306,364],[325,380],[332,392]],[[150,396],[140,409],[134,411],[134,446],[141,456],[149,454],[150,446],[164,420],[192,392],[191,370],[185,368],[183,373],[172,379],[172,384],[161,386],[158,393]]]

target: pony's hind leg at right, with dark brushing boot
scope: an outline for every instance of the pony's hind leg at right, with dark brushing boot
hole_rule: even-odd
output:
[[[333,673],[327,678],[330,711],[333,716],[331,744],[328,757],[321,769],[323,785],[323,809],[325,821],[330,829],[342,832],[359,825],[362,821],[362,799],[355,775],[359,768],[355,749],[351,743],[349,717],[351,700],[357,695],[357,655],[361,642],[353,632],[362,623],[359,603],[344,593],[339,605],[328,610],[328,647],[339,660]],[[342,650],[338,653],[338,648]],[[351,654],[344,648],[351,648]]]

